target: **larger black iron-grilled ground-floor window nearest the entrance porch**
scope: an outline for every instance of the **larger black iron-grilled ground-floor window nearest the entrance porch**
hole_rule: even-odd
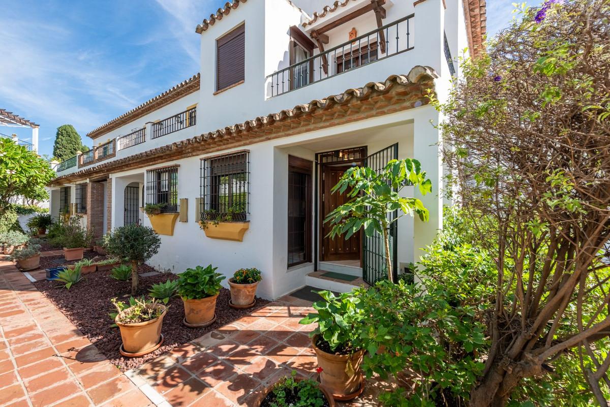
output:
[[[201,160],[201,219],[245,222],[249,203],[247,151]]]

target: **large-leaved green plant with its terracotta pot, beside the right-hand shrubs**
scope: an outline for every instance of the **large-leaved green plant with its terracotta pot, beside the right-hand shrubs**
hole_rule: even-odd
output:
[[[335,296],[318,292],[322,301],[312,305],[317,314],[309,314],[300,324],[317,324],[310,333],[311,344],[320,366],[320,382],[336,400],[351,400],[362,392],[362,355],[357,347],[358,325],[363,318],[359,299],[350,292]]]

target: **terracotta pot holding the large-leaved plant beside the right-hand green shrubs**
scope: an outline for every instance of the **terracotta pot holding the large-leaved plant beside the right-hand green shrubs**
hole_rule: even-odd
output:
[[[312,347],[314,347],[315,355],[318,358],[318,366],[322,368],[320,373],[320,382],[325,388],[332,393],[332,397],[340,400],[350,400],[357,397],[361,386],[362,372],[362,355],[364,350],[359,350],[353,355],[333,355],[319,349],[315,342],[318,335],[311,339]],[[351,361],[353,374],[348,375],[345,372],[348,366],[348,361]]]

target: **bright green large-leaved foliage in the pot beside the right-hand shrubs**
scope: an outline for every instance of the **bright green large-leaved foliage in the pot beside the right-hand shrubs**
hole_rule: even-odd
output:
[[[317,346],[331,353],[348,354],[359,349],[356,339],[362,310],[359,308],[360,299],[350,292],[340,294],[339,297],[331,291],[318,292],[323,301],[312,305],[317,314],[309,314],[300,320],[300,324],[315,324],[318,326],[310,336],[319,335]],[[318,345],[319,344],[319,345]],[[328,344],[329,350],[325,349]]]

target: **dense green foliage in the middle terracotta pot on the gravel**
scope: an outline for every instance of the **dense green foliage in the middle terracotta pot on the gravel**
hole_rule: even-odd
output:
[[[212,297],[220,292],[220,281],[224,280],[224,275],[217,273],[218,267],[197,266],[194,269],[187,269],[179,274],[178,294],[185,300],[199,300]]]

